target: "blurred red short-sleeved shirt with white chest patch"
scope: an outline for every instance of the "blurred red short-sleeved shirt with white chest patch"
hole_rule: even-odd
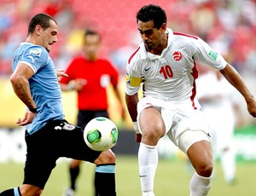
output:
[[[84,79],[84,87],[78,91],[79,110],[108,109],[106,88],[110,83],[116,87],[119,80],[119,73],[109,61],[87,61],[83,56],[78,56],[67,66],[66,73],[68,77],[61,78],[62,84],[68,84],[73,79]]]

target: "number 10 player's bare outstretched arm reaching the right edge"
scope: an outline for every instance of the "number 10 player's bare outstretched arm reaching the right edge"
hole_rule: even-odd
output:
[[[253,116],[256,117],[256,101],[247,85],[242,81],[241,76],[233,66],[227,64],[223,70],[220,70],[230,84],[232,84],[244,97],[247,102],[247,110]]]

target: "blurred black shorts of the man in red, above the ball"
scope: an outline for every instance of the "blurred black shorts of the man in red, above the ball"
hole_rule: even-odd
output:
[[[90,110],[79,110],[78,114],[78,126],[84,130],[86,124],[90,122],[92,118],[106,117],[108,118],[107,110],[90,111]]]

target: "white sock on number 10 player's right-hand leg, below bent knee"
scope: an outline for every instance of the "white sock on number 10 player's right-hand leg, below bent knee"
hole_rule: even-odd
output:
[[[196,172],[190,182],[189,196],[207,196],[211,188],[212,176],[199,176]]]

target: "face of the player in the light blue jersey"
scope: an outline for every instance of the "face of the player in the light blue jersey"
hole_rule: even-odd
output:
[[[54,20],[50,20],[47,29],[42,28],[41,42],[42,46],[49,52],[53,43],[57,42],[58,26]]]

